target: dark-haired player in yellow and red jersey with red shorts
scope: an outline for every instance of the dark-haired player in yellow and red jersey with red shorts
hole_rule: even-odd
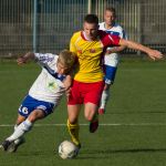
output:
[[[104,87],[102,59],[110,45],[139,50],[154,60],[163,56],[157,50],[98,30],[98,18],[95,14],[85,15],[83,31],[75,32],[70,43],[70,51],[77,55],[77,70],[68,101],[68,128],[72,142],[79,147],[79,114],[82,104],[84,116],[90,122],[90,132],[94,133],[98,126],[97,108]]]

